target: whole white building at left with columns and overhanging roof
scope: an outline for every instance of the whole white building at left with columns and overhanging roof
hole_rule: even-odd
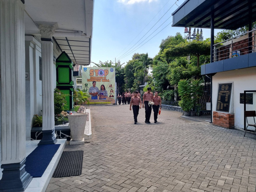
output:
[[[90,64],[93,4],[0,0],[0,191],[24,191],[32,180],[24,162],[34,114],[43,117],[39,144],[56,143],[54,62],[65,51],[74,64]]]

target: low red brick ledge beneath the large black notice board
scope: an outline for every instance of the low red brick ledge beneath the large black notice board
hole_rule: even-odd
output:
[[[235,120],[234,113],[224,113],[224,112],[213,112],[212,123],[214,125],[232,129],[234,128]]]

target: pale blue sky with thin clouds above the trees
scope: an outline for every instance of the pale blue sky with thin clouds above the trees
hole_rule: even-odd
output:
[[[162,39],[175,36],[177,32],[185,35],[183,27],[172,27],[171,16],[183,2],[184,0],[94,1],[91,61],[115,62],[116,59],[121,64],[126,64],[134,53],[148,53],[150,58],[154,58],[159,52]],[[219,31],[215,30],[215,34]],[[203,29],[203,36],[204,39],[210,38],[210,29]]]

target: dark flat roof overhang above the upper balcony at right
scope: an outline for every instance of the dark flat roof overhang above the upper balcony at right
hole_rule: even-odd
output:
[[[256,21],[256,0],[186,0],[172,13],[172,26],[210,28],[212,12],[215,29],[235,30]]]

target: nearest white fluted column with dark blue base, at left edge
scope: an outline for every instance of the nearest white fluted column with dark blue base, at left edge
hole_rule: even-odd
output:
[[[24,4],[0,0],[1,190],[20,190],[32,177],[26,160]],[[18,182],[13,182],[13,179]]]

